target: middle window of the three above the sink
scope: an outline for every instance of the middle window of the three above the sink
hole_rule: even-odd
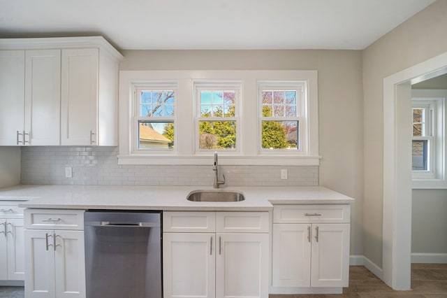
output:
[[[194,83],[196,102],[196,152],[240,151],[240,84]]]

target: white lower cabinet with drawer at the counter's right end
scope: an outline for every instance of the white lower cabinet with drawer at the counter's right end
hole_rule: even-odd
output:
[[[272,286],[288,289],[275,293],[348,286],[349,206],[312,207],[274,206]]]

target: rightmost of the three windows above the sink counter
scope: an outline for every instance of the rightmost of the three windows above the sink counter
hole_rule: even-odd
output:
[[[259,82],[261,152],[302,152],[305,82]]]

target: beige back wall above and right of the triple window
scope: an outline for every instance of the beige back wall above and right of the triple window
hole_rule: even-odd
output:
[[[351,50],[126,50],[121,70],[316,70],[320,185],[356,198],[351,254],[362,255],[362,54]]]

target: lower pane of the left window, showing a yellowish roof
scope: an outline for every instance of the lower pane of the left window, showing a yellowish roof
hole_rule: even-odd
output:
[[[138,148],[174,148],[174,122],[138,121]]]

